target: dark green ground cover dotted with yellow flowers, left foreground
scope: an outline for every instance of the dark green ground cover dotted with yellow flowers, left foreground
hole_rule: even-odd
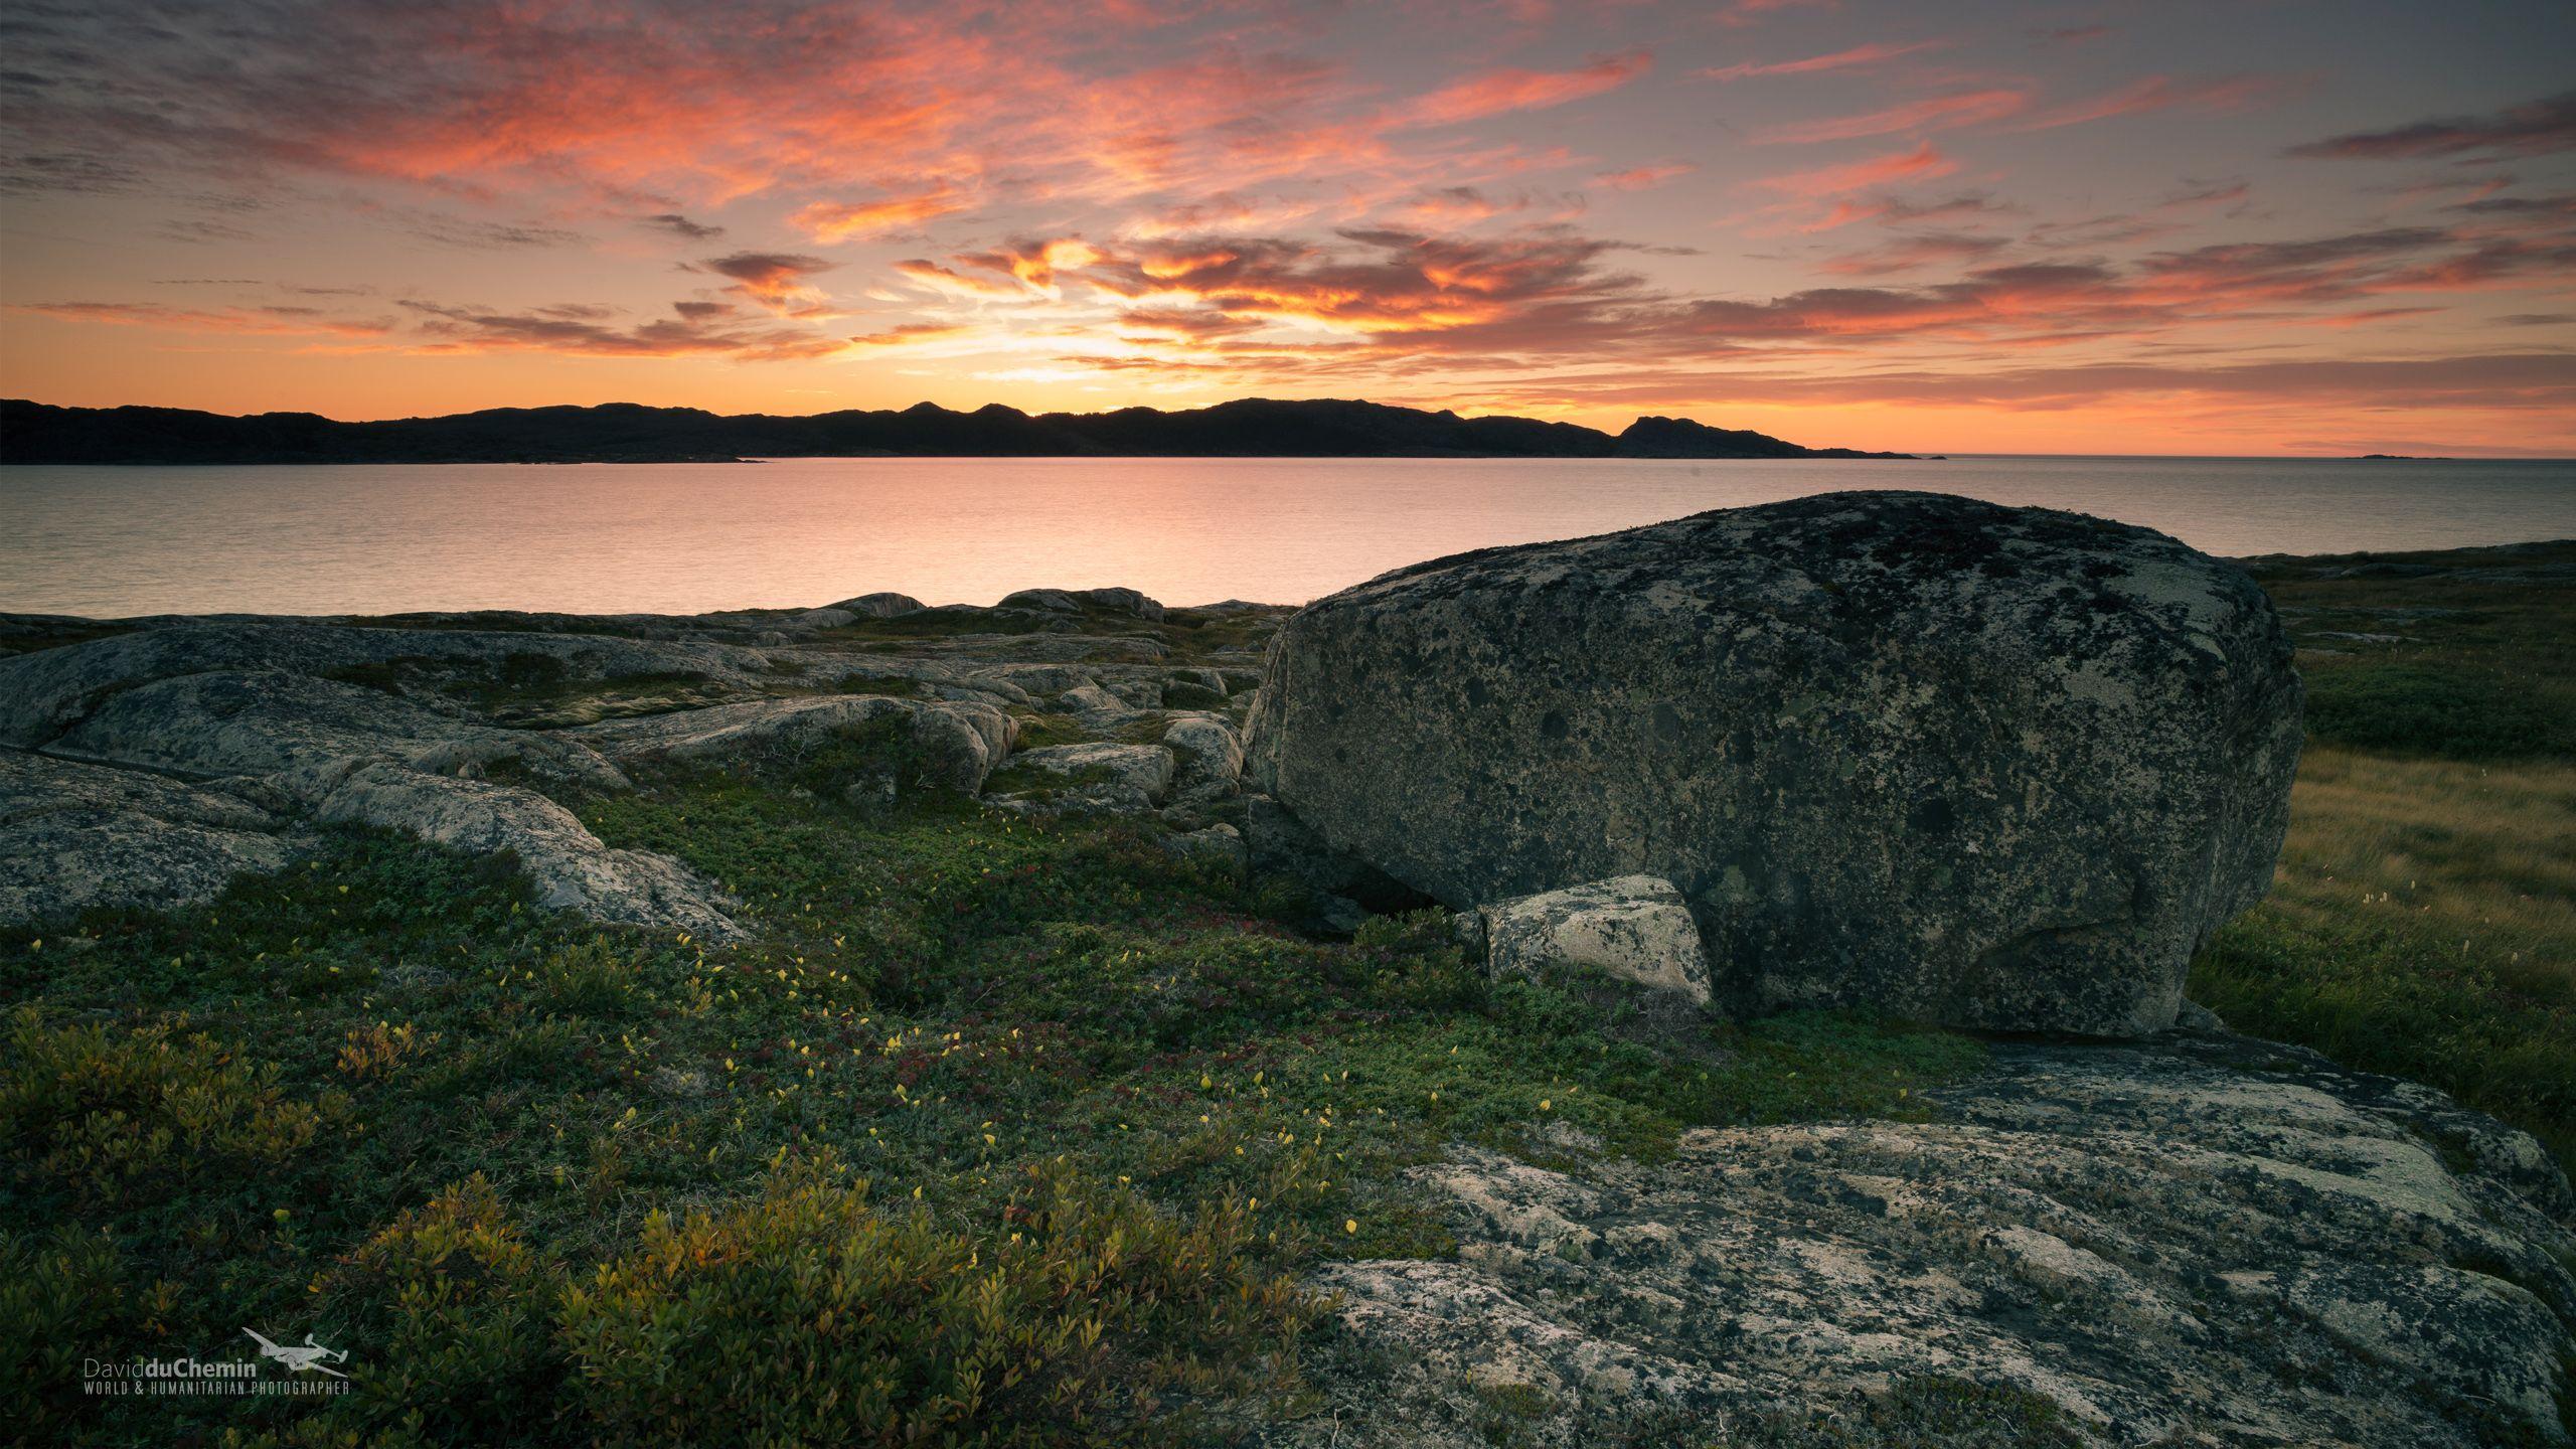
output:
[[[13,1423],[1221,1439],[1298,1410],[1306,1266],[1453,1248],[1401,1176],[1450,1140],[1651,1158],[1695,1124],[1911,1114],[1981,1060],[1486,982],[1437,918],[1311,938],[1293,892],[1133,825],[742,771],[582,815],[726,882],[760,941],[603,931],[361,833],[204,910],[0,941]],[[350,1392],[77,1397],[80,1356],[250,1356],[245,1325],[350,1348]]]

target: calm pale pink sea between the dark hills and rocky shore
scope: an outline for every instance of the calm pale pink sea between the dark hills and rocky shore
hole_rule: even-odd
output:
[[[1399,565],[1842,487],[2164,529],[2213,554],[2576,536],[2576,462],[783,459],[0,469],[0,611],[1301,603]]]

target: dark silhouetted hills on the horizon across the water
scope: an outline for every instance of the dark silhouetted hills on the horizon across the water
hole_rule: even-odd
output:
[[[227,418],[185,407],[52,407],[0,400],[0,464],[574,464],[788,456],[1298,456],[1298,459],[1901,459],[1803,449],[1687,418],[1610,436],[1535,418],[1461,418],[1378,402],[1247,397],[1162,413],[719,415],[698,407],[492,407],[451,418],[335,423],[314,413]]]

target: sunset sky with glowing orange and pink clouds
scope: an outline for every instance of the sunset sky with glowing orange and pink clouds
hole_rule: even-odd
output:
[[[0,394],[2568,456],[2571,57],[2566,0],[0,0]]]

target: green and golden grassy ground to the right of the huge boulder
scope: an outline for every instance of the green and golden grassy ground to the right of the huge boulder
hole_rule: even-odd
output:
[[[2272,897],[2192,995],[2576,1165],[2576,544],[2257,567],[2308,681]]]

